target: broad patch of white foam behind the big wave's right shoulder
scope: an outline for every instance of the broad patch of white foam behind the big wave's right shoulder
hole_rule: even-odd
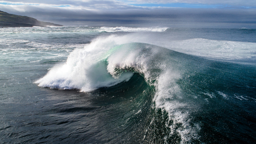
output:
[[[189,39],[164,44],[174,51],[215,59],[239,60],[256,57],[256,43]]]

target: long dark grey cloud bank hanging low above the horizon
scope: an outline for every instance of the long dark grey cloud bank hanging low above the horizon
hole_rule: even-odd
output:
[[[2,11],[26,15],[51,22],[116,21],[116,22],[201,22],[201,23],[255,23],[256,9],[174,9],[124,8],[88,9],[84,7],[53,7],[41,5],[0,5]]]

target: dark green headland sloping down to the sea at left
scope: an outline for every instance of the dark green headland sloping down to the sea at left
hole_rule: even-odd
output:
[[[62,26],[39,21],[28,16],[19,16],[0,11],[0,27],[33,27],[33,26]]]

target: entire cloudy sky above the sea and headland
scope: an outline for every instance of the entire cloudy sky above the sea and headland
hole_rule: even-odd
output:
[[[256,25],[256,0],[0,0],[0,10],[64,25]]]

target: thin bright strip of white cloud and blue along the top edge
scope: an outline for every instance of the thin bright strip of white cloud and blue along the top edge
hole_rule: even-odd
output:
[[[131,7],[133,4],[204,4],[256,8],[255,0],[1,0],[2,3],[39,4],[46,6],[83,6],[87,8],[115,9]]]

